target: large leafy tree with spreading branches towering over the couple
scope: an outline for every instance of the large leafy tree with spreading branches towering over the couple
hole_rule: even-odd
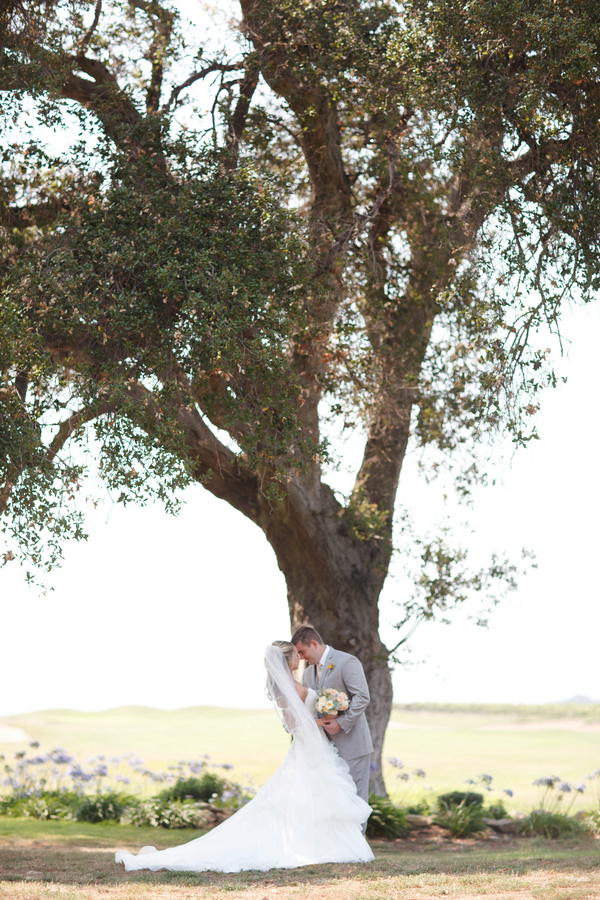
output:
[[[242,0],[213,55],[157,0],[1,16],[5,561],[81,536],[90,457],[124,502],[200,482],[264,531],[292,625],[362,660],[380,757],[409,439],[467,490],[482,436],[534,434],[547,335],[598,287],[597,4]],[[17,141],[25,114],[85,140]],[[345,499],[323,418],[364,439]],[[420,562],[405,621],[510,574]]]

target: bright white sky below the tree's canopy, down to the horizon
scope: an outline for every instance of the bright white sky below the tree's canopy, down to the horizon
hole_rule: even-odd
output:
[[[394,673],[395,700],[545,702],[600,699],[597,359],[600,314],[569,316],[568,384],[545,395],[542,440],[500,466],[471,522],[476,553],[534,550],[539,568],[490,619],[421,626],[419,665]],[[443,513],[410,461],[401,497],[422,522]],[[460,519],[464,518],[461,513]],[[107,502],[87,544],[69,546],[55,590],[0,571],[0,715],[125,704],[265,705],[262,650],[289,636],[285,584],[262,533],[200,487],[178,518]],[[392,644],[390,580],[382,633]],[[325,635],[326,637],[326,635]]]

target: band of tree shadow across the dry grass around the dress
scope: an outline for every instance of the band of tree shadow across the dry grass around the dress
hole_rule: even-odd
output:
[[[492,844],[492,842],[489,842]],[[0,846],[0,881],[50,882],[70,885],[124,884],[204,886],[222,891],[244,890],[259,885],[335,885],[349,880],[385,882],[387,879],[418,874],[513,875],[533,872],[591,871],[600,869],[598,843],[557,842],[519,839],[487,846],[477,842],[470,846],[440,845],[423,852],[402,847],[402,842],[373,842],[376,859],[359,865],[304,866],[299,869],[277,869],[270,872],[125,872],[114,862],[112,848],[53,847],[42,842],[4,844]]]

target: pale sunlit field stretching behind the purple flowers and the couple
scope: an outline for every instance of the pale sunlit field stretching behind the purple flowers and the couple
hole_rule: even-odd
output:
[[[510,707],[500,712],[492,707],[474,712],[396,708],[385,755],[404,760],[405,771],[424,769],[427,777],[419,787],[429,786],[435,794],[488,773],[498,789],[514,791],[509,808],[527,810],[536,802],[536,778],[557,774],[581,781],[600,766],[600,723],[563,708],[563,716],[557,717],[560,709],[553,707],[552,718],[543,707],[533,713]],[[1,743],[3,735],[14,738],[18,730],[23,740]],[[153,769],[208,753],[215,762],[233,763],[236,780],[244,781],[248,774],[257,785],[281,764],[289,746],[271,710],[209,706],[174,711],[122,707],[98,713],[49,710],[0,719],[0,753],[10,759],[28,740],[40,741],[42,749],[66,747],[82,759],[133,751]],[[389,771],[388,786],[400,799],[403,783],[396,774]]]

